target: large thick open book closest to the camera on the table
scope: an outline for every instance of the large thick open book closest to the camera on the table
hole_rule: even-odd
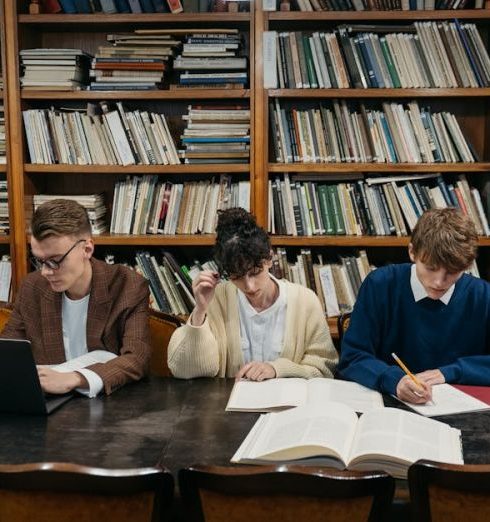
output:
[[[330,402],[261,415],[231,462],[311,463],[405,478],[419,459],[463,464],[461,432],[396,408],[358,418],[352,408]]]

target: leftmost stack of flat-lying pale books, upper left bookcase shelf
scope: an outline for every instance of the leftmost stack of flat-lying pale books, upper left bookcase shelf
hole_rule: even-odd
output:
[[[19,55],[23,89],[71,91],[86,88],[92,56],[80,49],[23,49]]]

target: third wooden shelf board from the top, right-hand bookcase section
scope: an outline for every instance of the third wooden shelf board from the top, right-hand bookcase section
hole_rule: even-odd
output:
[[[489,172],[490,162],[478,163],[269,163],[269,172]]]

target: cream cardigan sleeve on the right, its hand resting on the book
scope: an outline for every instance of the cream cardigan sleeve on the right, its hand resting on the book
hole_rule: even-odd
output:
[[[318,297],[303,289],[298,299],[288,297],[288,305],[294,301],[293,338],[295,346],[285,346],[283,357],[270,364],[276,377],[333,377],[338,355]],[[301,348],[300,348],[301,347]],[[289,357],[289,355],[292,355]]]

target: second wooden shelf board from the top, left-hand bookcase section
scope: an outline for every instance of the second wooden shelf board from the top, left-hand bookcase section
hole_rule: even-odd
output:
[[[23,100],[195,100],[249,99],[249,89],[179,89],[145,91],[21,91]]]

